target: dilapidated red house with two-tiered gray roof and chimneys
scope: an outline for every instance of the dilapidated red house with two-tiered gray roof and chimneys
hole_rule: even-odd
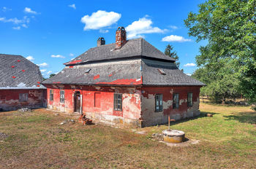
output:
[[[116,43],[97,40],[97,47],[65,63],[42,84],[48,108],[110,124],[144,127],[200,114],[199,93],[204,84],[178,70],[175,60],[145,39],[127,40],[124,27]]]

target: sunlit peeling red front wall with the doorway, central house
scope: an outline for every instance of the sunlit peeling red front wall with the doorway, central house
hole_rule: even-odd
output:
[[[82,111],[91,119],[99,119],[110,125],[140,126],[140,87],[93,87],[78,85],[48,85],[48,108],[74,112],[74,95],[81,94]],[[50,101],[53,89],[53,101]],[[60,90],[65,91],[65,103],[60,103]],[[122,93],[122,111],[113,110],[113,94]],[[95,95],[97,100],[95,101]]]

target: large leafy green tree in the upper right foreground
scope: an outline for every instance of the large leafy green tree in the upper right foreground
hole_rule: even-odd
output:
[[[208,0],[184,23],[197,42],[208,41],[200,47],[197,66],[214,69],[219,60],[229,60],[241,92],[256,102],[256,0]]]

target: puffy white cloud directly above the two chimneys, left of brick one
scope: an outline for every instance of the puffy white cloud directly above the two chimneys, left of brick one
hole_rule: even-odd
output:
[[[86,24],[83,31],[88,31],[90,29],[101,29],[107,26],[113,25],[121,18],[121,14],[116,12],[106,12],[98,10],[93,12],[91,16],[85,15],[81,18],[81,22]]]

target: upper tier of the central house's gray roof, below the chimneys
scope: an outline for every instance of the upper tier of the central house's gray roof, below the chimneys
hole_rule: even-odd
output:
[[[66,65],[76,65],[80,63],[89,63],[98,60],[113,60],[121,58],[131,58],[135,56],[143,56],[146,58],[156,58],[174,62],[175,59],[168,57],[156,47],[152,46],[145,39],[131,39],[128,40],[120,50],[115,50],[115,43],[105,44],[99,47],[93,47],[88,51],[79,55],[74,60],[66,63]],[[73,61],[78,60],[78,63]]]

